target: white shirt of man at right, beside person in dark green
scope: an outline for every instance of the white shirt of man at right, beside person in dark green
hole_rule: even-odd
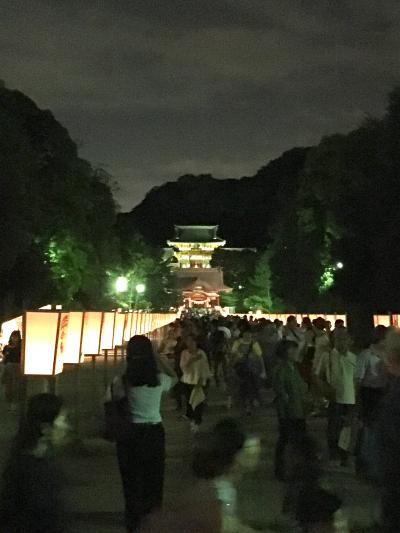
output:
[[[336,391],[336,403],[354,405],[356,403],[356,389],[354,378],[357,357],[352,352],[340,354],[332,350],[330,354],[329,382]]]

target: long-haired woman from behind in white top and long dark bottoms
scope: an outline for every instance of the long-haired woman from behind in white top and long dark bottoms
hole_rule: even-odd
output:
[[[150,340],[132,337],[126,373],[112,385],[114,399],[127,395],[132,423],[129,436],[117,440],[128,533],[140,531],[143,517],[162,503],[165,436],[160,404],[162,393],[175,381],[175,372],[154,355]]]

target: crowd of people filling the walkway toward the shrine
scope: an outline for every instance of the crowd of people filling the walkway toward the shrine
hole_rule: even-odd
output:
[[[13,338],[10,350],[17,344]],[[235,486],[248,448],[240,418],[255,410],[262,415],[265,407],[277,414],[274,475],[286,487],[286,531],[335,531],[342,502],[322,487],[323,470],[354,472],[373,483],[382,507],[377,531],[400,531],[399,330],[378,326],[356,354],[340,320],[332,328],[323,318],[311,322],[305,317],[297,324],[293,316],[283,324],[187,316],[169,326],[156,351],[148,338],[133,337],[126,361],[125,372],[107,392],[106,422],[107,437],[116,441],[128,532],[252,531],[236,513]],[[224,418],[202,431],[212,387],[225,399],[224,416],[235,413],[239,421]],[[194,434],[196,503],[189,515],[160,511],[165,468],[161,403],[168,391]],[[4,531],[62,531],[51,466],[65,430],[62,414],[53,395],[30,401],[3,476]],[[325,424],[323,446],[310,431],[312,417]],[[51,487],[51,506],[43,503],[48,489],[37,490],[37,484]],[[32,529],[32,520],[38,529]],[[28,524],[30,529],[23,529]]]

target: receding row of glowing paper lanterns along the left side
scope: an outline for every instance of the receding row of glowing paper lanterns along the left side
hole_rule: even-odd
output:
[[[27,311],[2,325],[22,334],[24,375],[54,376],[64,364],[77,364],[85,355],[97,355],[147,335],[176,318],[175,313],[142,311]],[[11,332],[11,331],[10,331]]]

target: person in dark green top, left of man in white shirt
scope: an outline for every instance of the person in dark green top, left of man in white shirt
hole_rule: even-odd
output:
[[[278,366],[274,376],[279,438],[275,450],[275,477],[284,481],[285,449],[289,442],[306,433],[307,385],[297,368],[298,345],[281,341],[277,347]]]

